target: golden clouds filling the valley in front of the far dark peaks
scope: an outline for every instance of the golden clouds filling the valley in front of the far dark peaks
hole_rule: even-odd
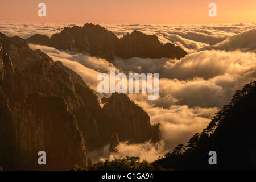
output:
[[[138,73],[159,72],[164,76],[159,80],[159,99],[148,100],[146,94],[129,94],[131,100],[147,111],[151,123],[162,124],[161,145],[153,147],[149,143],[122,143],[117,154],[109,154],[106,148],[97,151],[95,154],[98,155],[91,156],[95,161],[135,154],[151,160],[164,155],[176,144],[185,143],[194,133],[200,132],[208,125],[210,117],[229,102],[237,89],[256,78],[255,53],[252,52],[211,50],[191,53],[181,60],[117,59],[113,65],[104,59],[72,55],[51,47],[33,44],[30,47],[41,49],[54,60],[62,61],[79,73],[94,90],[99,82],[98,74],[108,73],[110,68],[117,72],[119,69]]]

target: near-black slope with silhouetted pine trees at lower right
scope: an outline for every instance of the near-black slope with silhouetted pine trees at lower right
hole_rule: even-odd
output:
[[[167,154],[156,163],[172,169],[256,169],[255,101],[256,81],[238,90],[182,154]],[[217,165],[209,165],[209,151],[216,151]]]

